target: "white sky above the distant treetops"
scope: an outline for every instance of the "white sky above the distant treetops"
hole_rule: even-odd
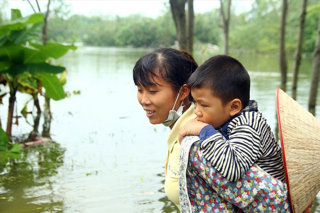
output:
[[[3,0],[0,0],[0,3]],[[30,0],[36,7],[35,0]],[[169,0],[64,0],[70,4],[72,14],[86,16],[92,15],[119,15],[142,14],[157,17],[163,14],[164,4],[169,5]],[[8,0],[10,8],[20,9],[22,16],[32,14],[32,9],[27,0]],[[41,11],[45,11],[48,0],[38,0]],[[250,10],[253,0],[233,0],[232,5],[237,10]],[[219,0],[194,0],[195,13],[204,13],[220,7]],[[10,9],[8,10],[10,11]],[[10,15],[10,12],[7,12]]]

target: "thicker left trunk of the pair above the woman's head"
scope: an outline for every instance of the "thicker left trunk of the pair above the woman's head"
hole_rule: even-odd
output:
[[[186,0],[169,0],[171,12],[176,25],[176,34],[179,43],[179,48],[187,50],[187,29],[186,29]]]

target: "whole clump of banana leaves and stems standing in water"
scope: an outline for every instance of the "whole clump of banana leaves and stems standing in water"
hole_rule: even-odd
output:
[[[21,152],[18,144],[10,143],[14,117],[16,93],[30,94],[37,115],[41,114],[38,95],[45,97],[45,120],[50,120],[49,100],[61,100],[65,97],[63,84],[65,83],[62,66],[52,65],[51,59],[62,57],[75,46],[64,46],[58,43],[40,44],[44,25],[43,14],[33,14],[22,17],[21,12],[12,9],[12,19],[0,26],[0,76],[1,84],[8,87],[8,92],[1,91],[0,97],[9,95],[6,132],[2,129],[0,120],[0,163],[6,162],[8,157],[17,157]],[[60,75],[59,75],[60,74]],[[59,75],[59,76],[58,76]],[[1,103],[1,102],[0,102]],[[20,103],[19,103],[20,104]],[[25,106],[21,114],[28,113]],[[32,113],[32,112],[30,112]],[[38,133],[35,117],[33,132]],[[38,118],[39,119],[39,118]]]

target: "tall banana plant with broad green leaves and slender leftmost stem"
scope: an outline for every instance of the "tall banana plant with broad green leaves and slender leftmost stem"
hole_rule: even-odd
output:
[[[75,46],[41,41],[44,15],[33,14],[22,17],[20,10],[11,10],[11,22],[0,26],[0,75],[4,74],[10,90],[6,134],[12,134],[12,120],[16,102],[16,92],[26,75],[36,79],[53,100],[65,97],[62,84],[56,76],[65,71],[62,66],[49,64],[50,59],[58,59]]]

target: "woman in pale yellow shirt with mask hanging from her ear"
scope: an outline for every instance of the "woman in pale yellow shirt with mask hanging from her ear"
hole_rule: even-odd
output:
[[[180,156],[178,133],[186,122],[196,117],[190,89],[186,86],[189,76],[196,68],[197,63],[190,54],[173,48],[156,49],[141,57],[133,68],[133,80],[138,88],[138,101],[146,111],[149,122],[163,123],[171,129],[167,139],[168,154],[164,189],[168,198],[179,210],[181,207],[178,191]],[[195,145],[192,146],[195,147]],[[189,163],[199,162],[193,159],[193,162],[190,160]],[[219,198],[218,205],[219,202],[228,201]],[[237,209],[239,204],[232,203],[228,206]]]

